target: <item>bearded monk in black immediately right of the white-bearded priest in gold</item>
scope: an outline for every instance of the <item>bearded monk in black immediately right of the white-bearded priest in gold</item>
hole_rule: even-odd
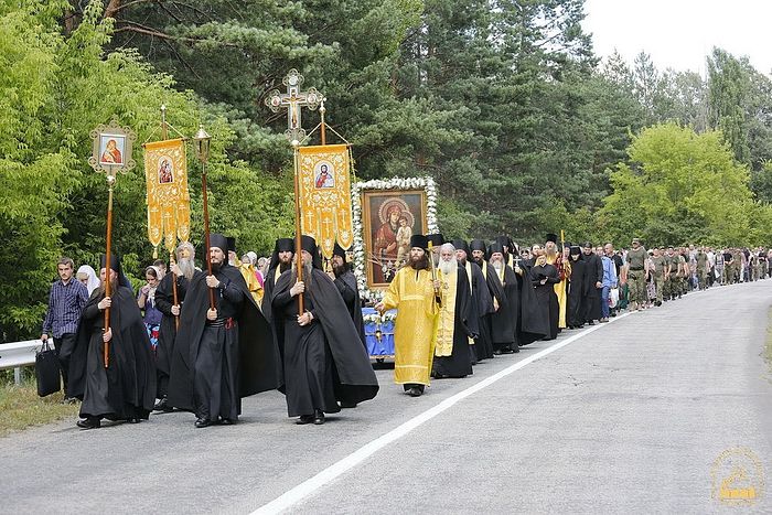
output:
[[[483,276],[481,268],[471,261],[471,250],[467,242],[463,239],[454,239],[453,246],[455,247],[455,259],[459,266],[467,271],[469,287],[472,290],[469,329],[472,333],[476,334],[475,339],[470,339],[472,365],[475,365],[482,360],[493,357],[491,321],[489,316],[493,313],[493,300],[491,299],[491,291],[487,289],[487,283],[485,282],[485,276]],[[485,266],[487,266],[487,264],[485,264]]]

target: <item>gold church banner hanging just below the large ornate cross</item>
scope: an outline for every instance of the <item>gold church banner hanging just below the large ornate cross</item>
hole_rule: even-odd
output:
[[[301,147],[299,152],[301,230],[331,258],[335,239],[344,249],[354,239],[349,146]]]

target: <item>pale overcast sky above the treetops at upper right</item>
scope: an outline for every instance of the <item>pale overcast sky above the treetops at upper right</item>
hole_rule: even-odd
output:
[[[660,69],[705,74],[706,55],[719,46],[772,72],[772,0],[586,0],[585,12],[601,57],[616,49],[632,63],[644,51]]]

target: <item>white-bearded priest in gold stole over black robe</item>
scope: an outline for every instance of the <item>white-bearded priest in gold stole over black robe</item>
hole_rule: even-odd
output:
[[[455,260],[455,247],[440,247],[440,264],[437,267],[442,303],[437,323],[435,364],[432,376],[467,377],[472,374],[470,339],[476,334],[470,329],[472,292],[467,270]]]

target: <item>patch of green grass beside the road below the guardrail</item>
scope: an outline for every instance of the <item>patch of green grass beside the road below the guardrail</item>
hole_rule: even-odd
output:
[[[63,405],[62,391],[37,397],[35,383],[0,386],[0,437],[31,426],[42,426],[65,418],[75,419],[79,405]]]

